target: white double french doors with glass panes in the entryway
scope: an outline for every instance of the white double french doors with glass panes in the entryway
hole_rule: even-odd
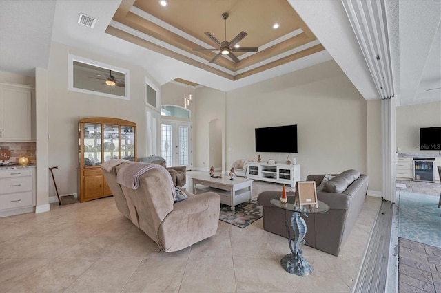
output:
[[[170,166],[192,169],[192,123],[163,120],[161,124],[161,155]]]

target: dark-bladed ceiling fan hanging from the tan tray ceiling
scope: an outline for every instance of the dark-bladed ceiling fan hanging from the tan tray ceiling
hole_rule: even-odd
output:
[[[218,41],[213,34],[209,32],[205,32],[205,34],[209,37],[209,39],[212,39],[216,45],[219,46],[218,49],[194,49],[194,51],[220,51],[219,54],[214,56],[212,60],[209,62],[212,63],[216,61],[217,58],[220,57],[220,55],[228,55],[229,58],[232,59],[234,62],[240,62],[239,58],[237,58],[236,55],[234,55],[233,52],[257,52],[258,47],[234,47],[237,43],[239,43],[245,36],[247,36],[247,33],[242,31],[240,32],[232,41],[227,42],[227,19],[228,19],[228,13],[225,12],[222,14],[222,18],[224,21],[224,40],[223,42]]]

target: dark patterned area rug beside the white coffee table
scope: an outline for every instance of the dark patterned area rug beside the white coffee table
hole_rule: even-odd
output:
[[[262,216],[262,206],[259,206],[255,200],[238,204],[234,210],[225,204],[220,204],[220,221],[225,221],[240,228],[245,228]]]

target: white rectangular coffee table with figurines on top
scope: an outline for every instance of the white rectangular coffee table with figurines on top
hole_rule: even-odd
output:
[[[252,199],[252,179],[234,177],[234,180],[229,180],[228,176],[222,178],[213,178],[209,175],[198,175],[193,177],[193,193],[206,193],[212,191],[220,195],[220,203],[231,206],[242,204]]]

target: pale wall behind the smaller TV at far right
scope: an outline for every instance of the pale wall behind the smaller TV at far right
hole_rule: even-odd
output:
[[[433,153],[420,151],[420,127],[441,126],[441,101],[396,108],[396,146],[398,153]]]

